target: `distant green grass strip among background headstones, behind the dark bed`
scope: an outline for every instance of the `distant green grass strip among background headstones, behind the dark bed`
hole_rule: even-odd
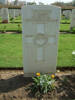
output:
[[[2,19],[0,17],[0,33],[5,32],[22,32],[22,24],[21,24],[21,17],[16,17],[15,19],[10,18],[9,23],[3,24],[1,23]],[[62,19],[60,24],[60,31],[72,33],[75,32],[75,29],[72,31],[70,30],[70,20]]]

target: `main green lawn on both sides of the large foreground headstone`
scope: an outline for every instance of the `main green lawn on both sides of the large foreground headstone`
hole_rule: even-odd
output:
[[[58,67],[75,66],[75,35],[59,35]],[[0,67],[22,67],[22,34],[0,34]]]

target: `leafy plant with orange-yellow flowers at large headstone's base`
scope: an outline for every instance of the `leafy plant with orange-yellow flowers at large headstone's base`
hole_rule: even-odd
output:
[[[34,96],[40,96],[46,94],[55,89],[55,75],[46,75],[36,73],[36,77],[33,77],[33,83],[30,86],[31,93]]]

